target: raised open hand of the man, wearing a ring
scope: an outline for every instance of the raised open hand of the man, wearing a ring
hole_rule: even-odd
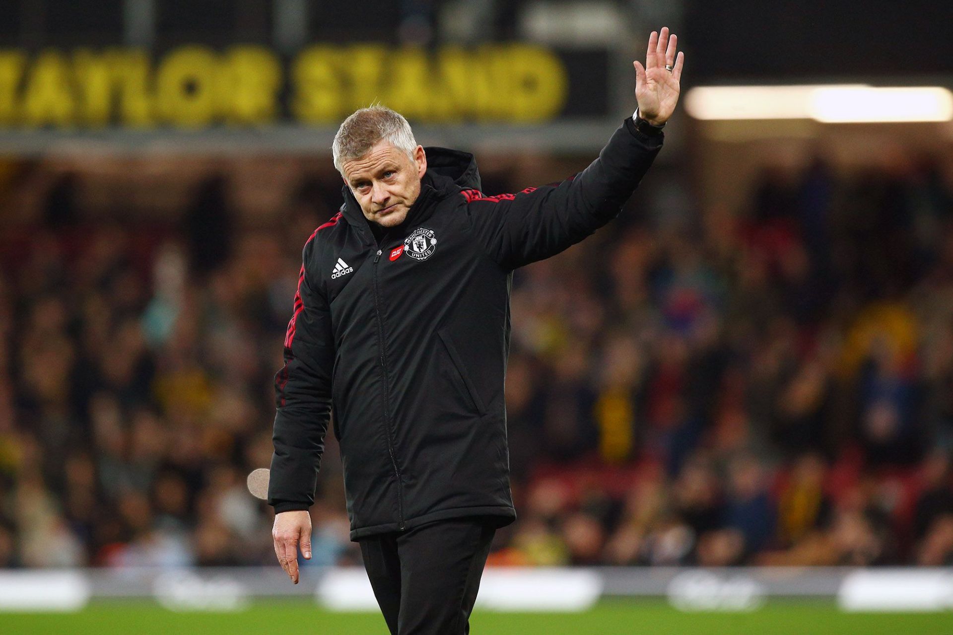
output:
[[[679,79],[685,53],[679,52],[676,56],[677,45],[678,37],[674,33],[669,36],[668,27],[662,27],[660,33],[652,31],[649,36],[645,66],[642,67],[639,60],[632,63],[636,67],[639,116],[658,126],[672,116],[675,105],[679,103]],[[667,70],[666,65],[672,70]]]

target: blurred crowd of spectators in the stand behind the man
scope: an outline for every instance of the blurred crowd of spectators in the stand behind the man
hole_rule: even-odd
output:
[[[953,564],[941,166],[765,169],[737,210],[653,178],[515,276],[519,517],[490,562]],[[3,227],[0,567],[274,564],[245,478],[271,459],[301,247],[335,195],[302,187],[249,228],[228,186],[119,224],[66,182],[42,223]],[[359,563],[328,436],[308,565]]]

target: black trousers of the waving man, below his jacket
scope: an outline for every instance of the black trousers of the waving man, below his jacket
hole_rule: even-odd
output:
[[[455,518],[360,539],[364,568],[392,635],[466,635],[496,533]]]

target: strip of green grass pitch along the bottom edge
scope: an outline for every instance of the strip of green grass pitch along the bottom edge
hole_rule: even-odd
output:
[[[663,602],[605,602],[556,615],[477,610],[473,635],[953,635],[953,613],[847,614],[831,604],[774,603],[753,613],[680,613]],[[79,613],[0,613],[0,632],[101,635],[387,635],[373,613],[339,614],[305,602],[254,604],[235,613],[173,613],[144,602],[91,604]]]

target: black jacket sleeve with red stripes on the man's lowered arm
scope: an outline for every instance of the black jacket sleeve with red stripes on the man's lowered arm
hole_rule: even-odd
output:
[[[316,235],[316,232],[314,233]],[[274,376],[274,455],[268,502],[274,513],[308,509],[331,418],[335,341],[328,301],[313,284],[314,235],[305,244],[284,366]]]

